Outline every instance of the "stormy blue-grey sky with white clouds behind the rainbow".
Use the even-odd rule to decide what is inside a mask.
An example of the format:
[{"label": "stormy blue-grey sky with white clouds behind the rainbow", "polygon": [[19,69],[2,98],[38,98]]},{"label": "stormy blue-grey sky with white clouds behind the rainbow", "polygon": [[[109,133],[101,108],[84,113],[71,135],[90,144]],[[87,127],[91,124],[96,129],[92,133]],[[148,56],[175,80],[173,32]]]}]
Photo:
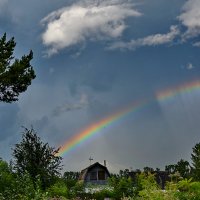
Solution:
[{"label": "stormy blue-grey sky with white clouds behind the rainbow", "polygon": [[[0,0],[0,36],[15,57],[32,49],[36,72],[12,104],[0,103],[0,157],[12,159],[23,128],[55,148],[135,102],[63,155],[63,171],[107,161],[111,172],[190,161],[200,142],[199,0]],[[158,94],[177,95],[161,99]],[[140,103],[139,103],[140,104]]]}]

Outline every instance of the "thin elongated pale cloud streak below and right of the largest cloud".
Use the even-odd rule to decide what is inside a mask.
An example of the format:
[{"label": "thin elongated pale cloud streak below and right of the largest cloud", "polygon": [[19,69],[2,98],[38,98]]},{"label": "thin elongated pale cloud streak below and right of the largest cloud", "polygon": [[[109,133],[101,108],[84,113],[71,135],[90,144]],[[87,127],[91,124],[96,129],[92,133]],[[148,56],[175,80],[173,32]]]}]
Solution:
[{"label": "thin elongated pale cloud streak below and right of the largest cloud", "polygon": [[170,32],[166,34],[155,34],[144,38],[139,38],[137,40],[131,40],[130,42],[115,42],[108,49],[129,49],[134,50],[142,46],[157,46],[162,44],[167,44],[172,42],[178,35],[180,31],[177,26],[171,26]]}]

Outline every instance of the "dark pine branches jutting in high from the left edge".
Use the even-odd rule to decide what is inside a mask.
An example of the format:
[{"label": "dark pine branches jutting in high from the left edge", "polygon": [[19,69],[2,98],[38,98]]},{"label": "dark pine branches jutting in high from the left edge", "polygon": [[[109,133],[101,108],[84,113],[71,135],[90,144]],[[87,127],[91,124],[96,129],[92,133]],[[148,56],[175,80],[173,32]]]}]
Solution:
[{"label": "dark pine branches jutting in high from the left edge", "polygon": [[26,91],[36,77],[30,64],[33,52],[13,60],[15,46],[14,37],[7,41],[4,34],[0,38],[0,101],[7,103],[17,101],[19,94]]}]

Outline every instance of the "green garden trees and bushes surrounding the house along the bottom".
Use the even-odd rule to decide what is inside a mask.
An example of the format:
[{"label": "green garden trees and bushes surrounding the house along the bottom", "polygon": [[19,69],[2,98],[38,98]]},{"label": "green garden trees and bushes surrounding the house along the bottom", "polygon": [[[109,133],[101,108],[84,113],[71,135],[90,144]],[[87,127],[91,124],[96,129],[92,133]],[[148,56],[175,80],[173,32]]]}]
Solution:
[{"label": "green garden trees and bushes surrounding the house along the bottom", "polygon": [[128,169],[111,174],[107,185],[85,185],[79,172],[61,174],[59,149],[43,143],[33,128],[24,128],[22,141],[13,148],[10,163],[0,159],[0,200],[199,200],[200,143],[192,149],[191,165],[181,159],[167,165],[169,180],[161,188],[155,171],[145,167],[131,178]]}]

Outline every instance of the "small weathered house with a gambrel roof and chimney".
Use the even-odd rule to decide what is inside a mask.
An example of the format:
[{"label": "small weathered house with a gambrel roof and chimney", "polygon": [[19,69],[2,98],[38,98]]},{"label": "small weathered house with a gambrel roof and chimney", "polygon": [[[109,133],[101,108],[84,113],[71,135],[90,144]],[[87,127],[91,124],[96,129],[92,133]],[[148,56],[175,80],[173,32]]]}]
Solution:
[{"label": "small weathered house with a gambrel roof and chimney", "polygon": [[89,167],[83,169],[80,173],[79,180],[84,181],[84,183],[92,183],[104,185],[107,183],[107,179],[110,177],[110,173],[106,167],[106,162],[104,165],[96,162]]}]

